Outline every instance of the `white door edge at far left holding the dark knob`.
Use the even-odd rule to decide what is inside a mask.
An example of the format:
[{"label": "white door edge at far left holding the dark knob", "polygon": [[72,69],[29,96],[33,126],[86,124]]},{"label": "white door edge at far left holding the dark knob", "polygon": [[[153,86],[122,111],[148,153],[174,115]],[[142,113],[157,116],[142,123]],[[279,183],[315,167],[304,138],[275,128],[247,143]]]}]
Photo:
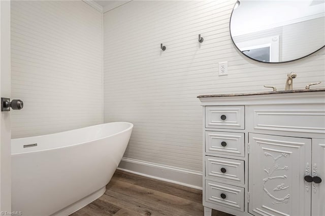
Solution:
[{"label": "white door edge at far left holding the dark knob", "polygon": [[[10,1],[0,1],[0,93],[11,98],[11,17]],[[0,211],[11,212],[11,115],[0,115]]]}]

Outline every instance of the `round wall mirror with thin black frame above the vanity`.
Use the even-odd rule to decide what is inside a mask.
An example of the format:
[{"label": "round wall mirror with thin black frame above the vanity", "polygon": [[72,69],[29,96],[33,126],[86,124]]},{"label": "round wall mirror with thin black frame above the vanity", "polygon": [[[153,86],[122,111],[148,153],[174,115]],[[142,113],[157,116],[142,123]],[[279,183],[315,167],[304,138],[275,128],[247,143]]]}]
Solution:
[{"label": "round wall mirror with thin black frame above the vanity", "polygon": [[237,1],[230,33],[235,46],[257,61],[306,57],[325,45],[325,1]]}]

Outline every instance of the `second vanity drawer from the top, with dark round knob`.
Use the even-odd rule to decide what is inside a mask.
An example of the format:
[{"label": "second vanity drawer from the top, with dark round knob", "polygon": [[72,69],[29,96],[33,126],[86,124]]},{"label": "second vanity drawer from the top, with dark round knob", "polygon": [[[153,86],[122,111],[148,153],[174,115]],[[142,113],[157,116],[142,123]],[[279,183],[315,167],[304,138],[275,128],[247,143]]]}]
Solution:
[{"label": "second vanity drawer from the top, with dark round knob", "polygon": [[244,133],[206,131],[205,151],[206,153],[245,157]]}]

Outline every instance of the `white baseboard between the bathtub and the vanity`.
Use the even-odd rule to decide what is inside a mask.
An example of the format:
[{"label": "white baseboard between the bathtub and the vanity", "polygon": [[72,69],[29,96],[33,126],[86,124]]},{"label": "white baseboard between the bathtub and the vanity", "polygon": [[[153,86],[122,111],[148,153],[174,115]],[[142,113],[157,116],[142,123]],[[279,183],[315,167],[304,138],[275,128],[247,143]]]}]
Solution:
[{"label": "white baseboard between the bathtub and the vanity", "polygon": [[202,172],[122,158],[119,170],[202,190]]}]

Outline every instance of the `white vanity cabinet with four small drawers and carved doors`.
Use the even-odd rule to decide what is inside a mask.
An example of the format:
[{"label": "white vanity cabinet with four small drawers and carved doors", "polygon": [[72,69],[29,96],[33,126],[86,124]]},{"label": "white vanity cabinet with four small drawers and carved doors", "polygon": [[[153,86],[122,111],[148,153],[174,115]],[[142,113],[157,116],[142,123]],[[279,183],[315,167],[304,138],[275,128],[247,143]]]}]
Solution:
[{"label": "white vanity cabinet with four small drawers and carved doors", "polygon": [[199,98],[205,215],[325,215],[323,89]]}]

